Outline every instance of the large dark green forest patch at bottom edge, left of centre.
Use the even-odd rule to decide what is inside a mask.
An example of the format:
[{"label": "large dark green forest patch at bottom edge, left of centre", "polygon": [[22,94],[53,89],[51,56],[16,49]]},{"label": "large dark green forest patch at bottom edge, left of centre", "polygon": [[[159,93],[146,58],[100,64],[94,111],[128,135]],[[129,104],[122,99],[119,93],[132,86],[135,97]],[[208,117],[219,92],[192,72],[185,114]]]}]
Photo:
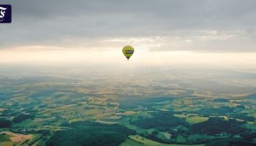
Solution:
[{"label": "large dark green forest patch at bottom edge, left of centre", "polygon": [[46,146],[118,146],[135,134],[124,126],[107,125],[91,121],[66,123],[67,130],[56,131],[46,142]]}]

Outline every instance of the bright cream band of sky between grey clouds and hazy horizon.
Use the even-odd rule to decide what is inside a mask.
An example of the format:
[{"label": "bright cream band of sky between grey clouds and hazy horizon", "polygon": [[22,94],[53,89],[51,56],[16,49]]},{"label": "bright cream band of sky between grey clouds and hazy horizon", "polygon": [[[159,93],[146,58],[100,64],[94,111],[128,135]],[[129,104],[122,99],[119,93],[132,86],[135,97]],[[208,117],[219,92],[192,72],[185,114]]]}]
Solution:
[{"label": "bright cream band of sky between grey clouds and hazy horizon", "polygon": [[[116,41],[116,40],[115,40]],[[118,41],[121,41],[118,40]],[[110,41],[111,42],[111,41]],[[251,69],[256,53],[197,53],[192,51],[152,51],[157,45],[134,43],[129,66],[219,66]],[[11,64],[127,64],[121,46],[74,47],[26,46],[0,50],[0,63]],[[91,46],[92,47],[92,46]],[[98,47],[98,48],[97,48]]]}]

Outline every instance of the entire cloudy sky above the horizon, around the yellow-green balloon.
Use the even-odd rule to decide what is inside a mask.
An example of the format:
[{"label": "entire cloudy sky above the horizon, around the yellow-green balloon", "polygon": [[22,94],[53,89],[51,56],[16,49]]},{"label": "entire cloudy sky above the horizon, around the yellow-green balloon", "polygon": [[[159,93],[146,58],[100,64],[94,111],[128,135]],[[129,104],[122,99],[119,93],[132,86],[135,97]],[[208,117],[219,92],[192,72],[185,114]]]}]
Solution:
[{"label": "entire cloudy sky above the horizon, around the yellow-green balloon", "polygon": [[10,0],[0,63],[256,66],[255,0]]}]

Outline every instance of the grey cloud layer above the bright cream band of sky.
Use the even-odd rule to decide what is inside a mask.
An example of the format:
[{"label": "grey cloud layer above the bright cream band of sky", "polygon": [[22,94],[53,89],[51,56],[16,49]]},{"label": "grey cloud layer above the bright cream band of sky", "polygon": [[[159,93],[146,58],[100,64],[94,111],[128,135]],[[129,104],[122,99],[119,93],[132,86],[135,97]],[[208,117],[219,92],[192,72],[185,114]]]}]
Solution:
[{"label": "grey cloud layer above the bright cream band of sky", "polygon": [[255,0],[12,0],[1,4],[12,4],[13,11],[12,24],[0,25],[2,48],[65,46],[65,39],[160,36],[192,43],[173,48],[165,40],[164,48],[152,50],[256,51]]}]

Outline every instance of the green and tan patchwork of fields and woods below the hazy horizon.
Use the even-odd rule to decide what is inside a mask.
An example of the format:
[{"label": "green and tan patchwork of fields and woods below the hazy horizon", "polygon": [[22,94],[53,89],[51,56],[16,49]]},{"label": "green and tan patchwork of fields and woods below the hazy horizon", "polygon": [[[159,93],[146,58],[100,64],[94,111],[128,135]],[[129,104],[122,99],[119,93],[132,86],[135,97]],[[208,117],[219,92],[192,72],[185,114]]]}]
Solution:
[{"label": "green and tan patchwork of fields and woods below the hazy horizon", "polygon": [[212,81],[186,75],[138,74],[0,74],[1,145],[255,145],[256,94],[202,91]]}]

